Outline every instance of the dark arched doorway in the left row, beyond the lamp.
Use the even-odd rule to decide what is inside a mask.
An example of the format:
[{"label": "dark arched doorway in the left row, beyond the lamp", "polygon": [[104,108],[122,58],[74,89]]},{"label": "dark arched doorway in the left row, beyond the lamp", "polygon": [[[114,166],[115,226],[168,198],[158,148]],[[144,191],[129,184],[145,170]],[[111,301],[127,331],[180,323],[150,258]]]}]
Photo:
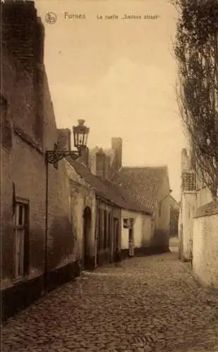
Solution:
[{"label": "dark arched doorway in the left row, beyond the lamp", "polygon": [[92,212],[87,206],[83,211],[83,268],[90,267],[90,230],[91,230]]}]

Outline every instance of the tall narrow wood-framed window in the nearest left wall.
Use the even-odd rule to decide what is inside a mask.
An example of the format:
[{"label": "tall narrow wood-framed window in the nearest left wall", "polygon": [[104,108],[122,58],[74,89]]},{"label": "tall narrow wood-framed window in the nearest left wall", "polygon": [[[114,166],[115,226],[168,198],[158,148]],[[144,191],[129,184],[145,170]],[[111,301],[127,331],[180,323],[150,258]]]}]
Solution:
[{"label": "tall narrow wood-framed window in the nearest left wall", "polygon": [[13,218],[15,279],[28,272],[28,201],[16,201]]}]

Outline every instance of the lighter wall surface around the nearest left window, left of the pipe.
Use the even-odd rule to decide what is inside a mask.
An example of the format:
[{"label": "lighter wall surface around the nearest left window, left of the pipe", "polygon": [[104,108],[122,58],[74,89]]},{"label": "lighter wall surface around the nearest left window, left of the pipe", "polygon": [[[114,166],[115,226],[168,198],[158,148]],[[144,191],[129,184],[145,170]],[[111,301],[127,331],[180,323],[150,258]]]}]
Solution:
[{"label": "lighter wall surface around the nearest left window, left of the pipe", "polygon": [[[3,278],[11,284],[14,271],[13,184],[15,196],[30,201],[30,277],[44,268],[45,168],[42,149],[35,139],[35,99],[30,75],[2,48],[2,94],[7,100],[10,146],[1,144],[4,173],[1,192]],[[33,120],[33,121],[32,121]],[[4,135],[6,130],[2,130]],[[2,140],[1,140],[2,142]]]}]

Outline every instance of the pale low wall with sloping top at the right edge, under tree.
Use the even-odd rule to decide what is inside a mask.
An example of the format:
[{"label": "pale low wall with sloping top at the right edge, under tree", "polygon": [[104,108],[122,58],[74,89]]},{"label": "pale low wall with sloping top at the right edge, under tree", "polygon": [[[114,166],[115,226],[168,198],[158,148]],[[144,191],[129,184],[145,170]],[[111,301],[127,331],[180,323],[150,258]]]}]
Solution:
[{"label": "pale low wall with sloping top at the right edge, under tree", "polygon": [[218,205],[197,210],[193,220],[193,274],[205,286],[218,289]]}]

